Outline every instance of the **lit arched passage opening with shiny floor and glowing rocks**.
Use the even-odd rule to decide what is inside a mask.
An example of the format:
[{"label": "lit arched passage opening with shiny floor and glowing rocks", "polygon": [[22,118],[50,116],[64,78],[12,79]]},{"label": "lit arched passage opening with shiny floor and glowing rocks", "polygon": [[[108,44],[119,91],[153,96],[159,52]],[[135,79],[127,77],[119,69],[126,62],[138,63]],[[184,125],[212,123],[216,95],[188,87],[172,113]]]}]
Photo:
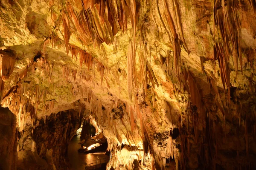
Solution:
[{"label": "lit arched passage opening with shiny floor and glowing rocks", "polygon": [[84,119],[68,145],[70,169],[106,169],[109,161],[107,148],[107,139],[96,120],[92,116]]}]

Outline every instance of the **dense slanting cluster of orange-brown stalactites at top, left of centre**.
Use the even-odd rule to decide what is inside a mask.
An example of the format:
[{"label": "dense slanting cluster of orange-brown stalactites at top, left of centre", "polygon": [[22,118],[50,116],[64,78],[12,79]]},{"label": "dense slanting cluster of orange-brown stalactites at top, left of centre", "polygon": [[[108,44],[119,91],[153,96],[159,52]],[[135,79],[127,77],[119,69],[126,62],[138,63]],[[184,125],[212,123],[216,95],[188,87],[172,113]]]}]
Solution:
[{"label": "dense slanting cluster of orange-brown stalactites at top, left of centre", "polygon": [[79,38],[86,45],[90,42],[97,44],[106,42],[108,44],[113,42],[113,35],[119,31],[119,27],[123,31],[127,28],[128,2],[125,0],[122,0],[121,3],[105,0],[82,2],[84,10],[80,12],[76,12],[73,6],[67,3],[67,11],[73,25],[80,33]]}]

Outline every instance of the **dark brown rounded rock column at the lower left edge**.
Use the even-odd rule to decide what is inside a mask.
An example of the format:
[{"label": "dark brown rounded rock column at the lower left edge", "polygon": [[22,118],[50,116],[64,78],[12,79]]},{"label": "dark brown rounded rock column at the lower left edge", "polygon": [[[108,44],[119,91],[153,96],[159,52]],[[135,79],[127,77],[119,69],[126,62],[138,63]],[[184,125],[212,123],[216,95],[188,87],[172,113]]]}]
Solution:
[{"label": "dark brown rounded rock column at the lower left edge", "polygon": [[8,109],[0,107],[0,169],[17,169],[16,116]]}]

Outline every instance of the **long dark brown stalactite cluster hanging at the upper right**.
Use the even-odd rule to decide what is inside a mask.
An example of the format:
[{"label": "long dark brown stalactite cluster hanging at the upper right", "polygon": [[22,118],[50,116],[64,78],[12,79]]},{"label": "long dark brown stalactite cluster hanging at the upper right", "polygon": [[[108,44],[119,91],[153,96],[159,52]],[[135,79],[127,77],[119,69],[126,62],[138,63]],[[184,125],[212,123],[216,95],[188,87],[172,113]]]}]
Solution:
[{"label": "long dark brown stalactite cluster hanging at the upper right", "polygon": [[[218,59],[221,70],[221,80],[228,88],[228,102],[230,102],[230,66],[229,56],[233,56],[236,75],[238,74],[238,59],[240,61],[241,74],[243,74],[242,66],[242,50],[240,43],[240,19],[237,14],[236,4],[228,1],[226,5],[220,0],[214,0],[214,27],[220,32],[220,39],[215,40],[214,59]],[[215,37],[215,30],[214,30]],[[224,85],[225,88],[225,85]]]}]

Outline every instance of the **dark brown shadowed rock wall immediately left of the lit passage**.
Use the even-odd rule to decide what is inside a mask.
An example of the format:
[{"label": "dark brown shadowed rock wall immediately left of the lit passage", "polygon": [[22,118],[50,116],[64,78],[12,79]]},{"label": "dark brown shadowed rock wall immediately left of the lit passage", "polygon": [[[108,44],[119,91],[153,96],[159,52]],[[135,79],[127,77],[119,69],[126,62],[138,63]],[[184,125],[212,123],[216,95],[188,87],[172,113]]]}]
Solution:
[{"label": "dark brown shadowed rock wall immediately left of the lit passage", "polygon": [[67,145],[80,126],[79,114],[73,110],[39,119],[33,133],[38,155],[45,158],[49,165],[54,165],[57,170],[67,170]]}]

